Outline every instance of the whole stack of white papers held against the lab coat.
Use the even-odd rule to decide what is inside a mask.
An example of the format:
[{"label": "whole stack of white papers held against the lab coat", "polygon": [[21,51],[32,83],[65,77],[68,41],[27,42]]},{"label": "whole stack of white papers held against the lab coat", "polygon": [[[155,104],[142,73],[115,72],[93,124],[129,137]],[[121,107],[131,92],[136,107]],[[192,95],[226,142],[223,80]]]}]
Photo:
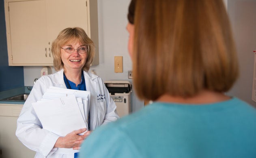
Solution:
[{"label": "whole stack of white papers held against the lab coat", "polygon": [[32,106],[43,129],[64,137],[74,130],[88,129],[89,103],[89,91],[51,86]]}]

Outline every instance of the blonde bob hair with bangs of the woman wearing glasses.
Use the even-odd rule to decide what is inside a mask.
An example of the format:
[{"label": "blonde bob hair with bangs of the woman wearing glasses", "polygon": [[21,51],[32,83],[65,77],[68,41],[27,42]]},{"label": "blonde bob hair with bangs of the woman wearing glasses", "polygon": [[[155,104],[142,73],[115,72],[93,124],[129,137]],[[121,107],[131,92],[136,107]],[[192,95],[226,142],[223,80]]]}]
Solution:
[{"label": "blonde bob hair with bangs of the woman wearing glasses", "polygon": [[56,71],[64,69],[64,64],[61,60],[60,47],[67,44],[69,41],[78,41],[82,44],[87,45],[87,59],[85,65],[82,67],[82,70],[87,71],[90,68],[90,64],[93,61],[95,54],[95,46],[93,41],[87,36],[84,29],[80,27],[69,27],[63,29],[57,36],[56,40],[52,42],[52,54],[53,54],[53,63]]}]

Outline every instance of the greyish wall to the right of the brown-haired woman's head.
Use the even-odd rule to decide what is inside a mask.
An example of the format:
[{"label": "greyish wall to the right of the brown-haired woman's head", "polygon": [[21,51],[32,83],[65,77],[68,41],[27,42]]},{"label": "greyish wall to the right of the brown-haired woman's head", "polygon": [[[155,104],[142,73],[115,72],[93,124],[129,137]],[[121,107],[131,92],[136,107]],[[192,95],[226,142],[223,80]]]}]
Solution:
[{"label": "greyish wall to the right of the brown-haired woman's head", "polygon": [[239,58],[240,76],[228,93],[256,106],[252,101],[254,53],[256,49],[256,0],[228,0],[234,40]]}]

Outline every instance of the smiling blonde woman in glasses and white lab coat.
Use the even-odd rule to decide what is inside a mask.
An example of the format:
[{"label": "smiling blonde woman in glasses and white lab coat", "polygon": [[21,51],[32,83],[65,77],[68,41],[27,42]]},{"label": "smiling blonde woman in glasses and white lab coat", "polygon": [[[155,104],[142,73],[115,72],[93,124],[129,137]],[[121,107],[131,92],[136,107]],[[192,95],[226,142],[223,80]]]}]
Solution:
[{"label": "smiling blonde woman in glasses and white lab coat", "polygon": [[[103,80],[88,73],[95,47],[82,28],[62,30],[52,43],[52,53],[57,72],[42,76],[34,84],[17,120],[16,135],[26,147],[37,152],[36,158],[74,158],[92,130],[117,120],[119,116]],[[78,134],[87,129],[73,129],[60,137],[42,128],[32,103],[41,100],[50,86],[90,91],[89,129],[84,135]]]}]

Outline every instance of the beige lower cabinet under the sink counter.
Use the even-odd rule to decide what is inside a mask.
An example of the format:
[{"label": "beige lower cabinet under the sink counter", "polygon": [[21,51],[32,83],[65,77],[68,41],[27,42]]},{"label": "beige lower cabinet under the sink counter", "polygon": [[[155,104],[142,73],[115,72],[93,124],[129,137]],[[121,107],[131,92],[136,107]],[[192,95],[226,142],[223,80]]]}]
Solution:
[{"label": "beige lower cabinet under the sink counter", "polygon": [[0,104],[0,158],[34,158],[36,154],[23,145],[15,135],[22,106]]}]

